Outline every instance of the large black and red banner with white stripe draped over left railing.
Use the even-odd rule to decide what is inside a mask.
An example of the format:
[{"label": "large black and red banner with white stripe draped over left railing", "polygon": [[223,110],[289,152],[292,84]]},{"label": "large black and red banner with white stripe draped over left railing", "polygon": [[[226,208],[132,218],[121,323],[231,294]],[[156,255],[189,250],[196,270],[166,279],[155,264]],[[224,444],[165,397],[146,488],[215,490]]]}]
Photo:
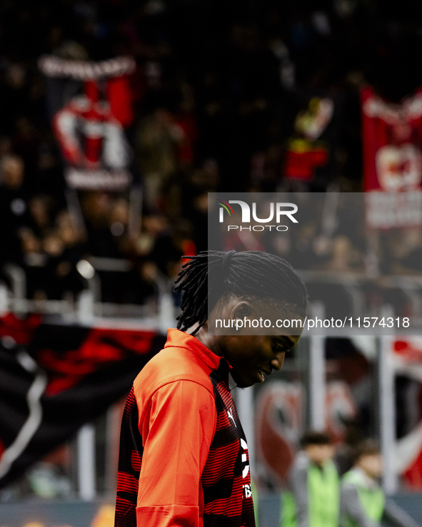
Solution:
[{"label": "large black and red banner with white stripe draped over left railing", "polygon": [[164,337],[0,319],[0,488],[129,392]]}]

